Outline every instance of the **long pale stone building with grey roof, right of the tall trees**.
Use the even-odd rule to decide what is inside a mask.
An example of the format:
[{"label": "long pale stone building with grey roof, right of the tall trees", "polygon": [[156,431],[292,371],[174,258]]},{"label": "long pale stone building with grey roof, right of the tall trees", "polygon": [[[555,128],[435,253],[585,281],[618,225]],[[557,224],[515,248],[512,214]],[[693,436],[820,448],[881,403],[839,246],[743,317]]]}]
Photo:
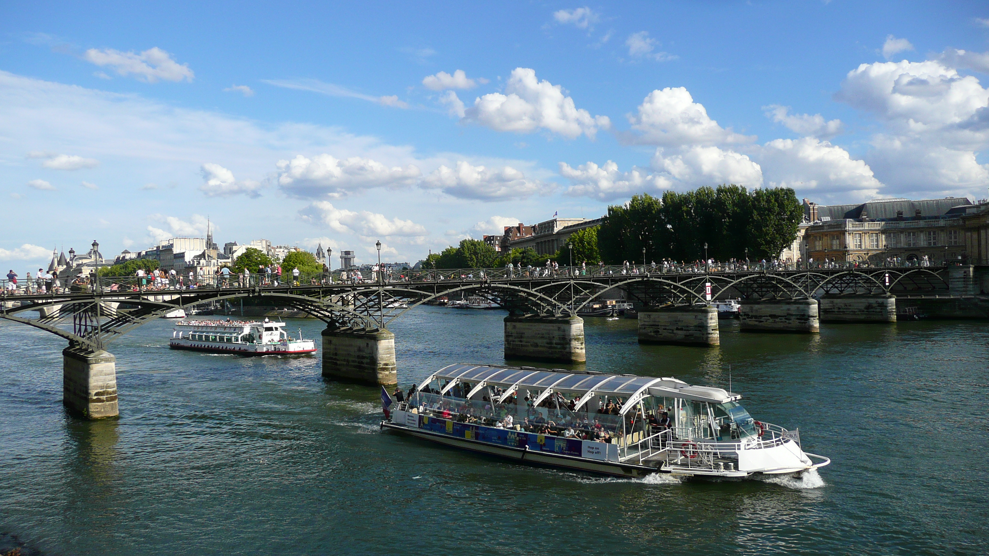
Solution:
[{"label": "long pale stone building with grey roof, right of the tall trees", "polygon": [[873,199],[858,205],[825,206],[804,199],[809,223],[803,237],[806,257],[881,263],[985,260],[982,253],[989,203],[968,198]]}]

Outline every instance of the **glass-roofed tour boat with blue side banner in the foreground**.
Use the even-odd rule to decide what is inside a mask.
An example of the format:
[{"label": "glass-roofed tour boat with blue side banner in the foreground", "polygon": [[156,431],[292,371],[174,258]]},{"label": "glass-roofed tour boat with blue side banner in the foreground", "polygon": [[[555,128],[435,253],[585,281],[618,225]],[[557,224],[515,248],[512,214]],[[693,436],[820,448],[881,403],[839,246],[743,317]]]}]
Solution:
[{"label": "glass-roofed tour boat with blue side banner in the foreground", "polygon": [[455,364],[416,385],[382,427],[526,463],[621,477],[795,474],[831,460],[742,396],[674,378]]}]

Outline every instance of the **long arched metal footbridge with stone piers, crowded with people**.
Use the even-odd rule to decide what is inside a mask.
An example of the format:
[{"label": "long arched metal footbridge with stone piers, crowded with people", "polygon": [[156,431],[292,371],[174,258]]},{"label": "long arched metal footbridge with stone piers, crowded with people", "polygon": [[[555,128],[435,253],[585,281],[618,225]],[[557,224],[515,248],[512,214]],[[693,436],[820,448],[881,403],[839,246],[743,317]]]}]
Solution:
[{"label": "long arched metal footbridge with stone piers, crowded with people", "polygon": [[508,311],[506,357],[584,361],[579,314],[606,292],[620,291],[639,318],[639,339],[717,345],[710,303],[741,301],[741,329],[816,332],[822,319],[896,321],[896,296],[978,293],[975,267],[864,267],[854,263],[473,268],[373,273],[341,281],[338,273],[267,280],[260,275],[200,278],[196,283],[138,277],[78,278],[51,290],[42,282],[2,281],[0,318],[68,340],[64,402],[87,417],[117,415],[116,337],[177,309],[251,299],[292,307],[326,324],[322,373],[333,379],[395,384],[395,335],[388,329],[416,306],[461,293]]}]

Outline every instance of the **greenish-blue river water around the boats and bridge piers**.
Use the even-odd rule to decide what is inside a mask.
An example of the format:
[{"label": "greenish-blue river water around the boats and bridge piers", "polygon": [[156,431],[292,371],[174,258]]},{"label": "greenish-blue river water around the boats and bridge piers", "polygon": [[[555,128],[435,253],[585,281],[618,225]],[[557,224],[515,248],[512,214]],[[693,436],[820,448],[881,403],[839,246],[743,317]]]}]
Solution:
[{"label": "greenish-blue river water around the boats and bridge piers", "polygon": [[[393,324],[407,388],[503,363],[500,311]],[[0,548],[68,554],[985,554],[989,326],[823,325],[715,348],[585,320],[586,368],[728,387],[832,458],[802,480],[602,479],[382,433],[379,391],[318,357],[172,351],[159,320],[112,344],[119,419],[61,406],[64,340],[0,322]],[[319,337],[316,321],[290,321]],[[532,364],[511,361],[513,364]],[[563,365],[554,365],[563,366]],[[37,552],[36,552],[37,551]]]}]

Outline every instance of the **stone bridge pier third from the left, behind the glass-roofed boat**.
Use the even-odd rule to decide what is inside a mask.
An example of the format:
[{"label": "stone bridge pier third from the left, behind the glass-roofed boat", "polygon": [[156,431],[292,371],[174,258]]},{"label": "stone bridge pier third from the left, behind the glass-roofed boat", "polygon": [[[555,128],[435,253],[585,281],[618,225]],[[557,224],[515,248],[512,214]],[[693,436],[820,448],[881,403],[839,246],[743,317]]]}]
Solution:
[{"label": "stone bridge pier third from the left, behind the glass-roofed boat", "polygon": [[584,351],[584,319],[580,317],[505,317],[504,356],[580,363]]}]

